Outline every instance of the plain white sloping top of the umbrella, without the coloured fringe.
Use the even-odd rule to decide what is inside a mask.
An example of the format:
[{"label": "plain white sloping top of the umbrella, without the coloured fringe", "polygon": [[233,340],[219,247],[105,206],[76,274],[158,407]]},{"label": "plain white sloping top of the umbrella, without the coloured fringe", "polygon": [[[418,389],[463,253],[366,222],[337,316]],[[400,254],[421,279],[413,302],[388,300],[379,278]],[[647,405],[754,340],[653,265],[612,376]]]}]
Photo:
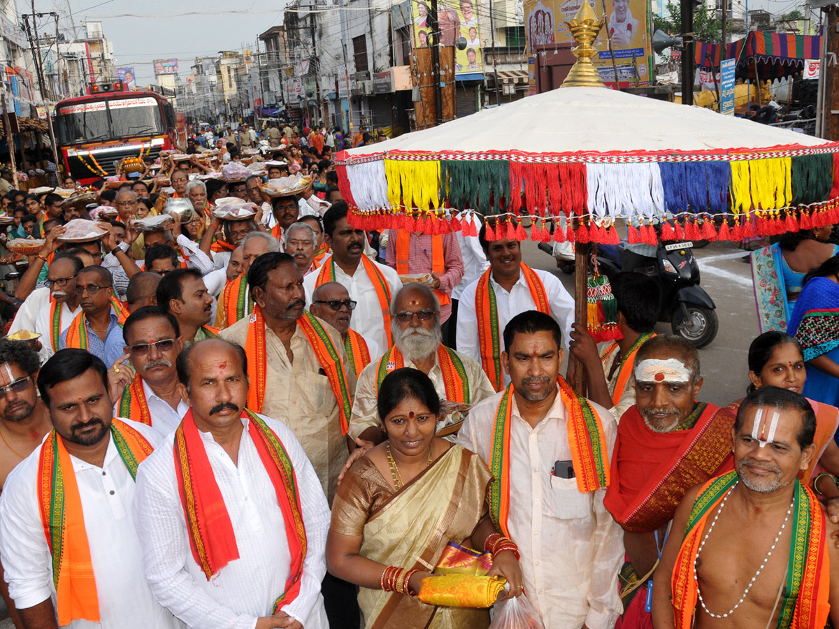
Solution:
[{"label": "plain white sloping top of the umbrella, without the coloured fringe", "polygon": [[585,153],[815,147],[825,140],[720,116],[623,91],[574,87],[528,96],[383,143],[353,148],[347,159],[383,151]]}]

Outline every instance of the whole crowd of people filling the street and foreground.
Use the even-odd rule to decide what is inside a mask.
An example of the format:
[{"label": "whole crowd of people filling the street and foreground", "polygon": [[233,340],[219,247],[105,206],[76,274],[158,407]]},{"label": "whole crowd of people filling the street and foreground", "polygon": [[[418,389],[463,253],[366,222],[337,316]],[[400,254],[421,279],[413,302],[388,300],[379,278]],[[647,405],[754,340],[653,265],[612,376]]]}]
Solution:
[{"label": "whole crowd of people filling the street and foreground", "polygon": [[839,257],[805,245],[791,334],[720,407],[652,278],[613,278],[598,348],[492,218],[357,229],[308,131],[3,196],[44,241],[0,294],[15,626],[486,629],[521,596],[545,629],[839,622]]}]

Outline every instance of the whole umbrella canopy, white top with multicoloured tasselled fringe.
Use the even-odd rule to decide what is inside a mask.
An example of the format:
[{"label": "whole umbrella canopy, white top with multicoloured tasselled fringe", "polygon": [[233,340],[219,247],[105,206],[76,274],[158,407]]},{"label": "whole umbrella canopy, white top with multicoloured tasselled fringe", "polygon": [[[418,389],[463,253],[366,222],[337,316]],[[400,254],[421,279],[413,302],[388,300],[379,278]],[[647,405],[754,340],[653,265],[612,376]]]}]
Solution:
[{"label": "whole umbrella canopy, white top with multicoloured tasselled fringe", "polygon": [[[630,242],[655,242],[650,226],[674,218],[662,239],[839,219],[839,143],[598,87],[528,96],[337,159],[365,229],[460,229],[446,208],[542,217],[532,237],[543,241],[616,242],[618,218]],[[549,234],[545,221],[560,215],[579,228]]]}]

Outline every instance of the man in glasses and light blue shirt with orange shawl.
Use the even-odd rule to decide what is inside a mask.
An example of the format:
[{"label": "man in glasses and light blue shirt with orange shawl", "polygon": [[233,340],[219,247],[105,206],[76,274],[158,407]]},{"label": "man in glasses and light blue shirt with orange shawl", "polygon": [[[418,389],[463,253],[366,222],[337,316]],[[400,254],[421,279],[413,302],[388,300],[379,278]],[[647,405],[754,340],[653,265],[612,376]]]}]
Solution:
[{"label": "man in glasses and light blue shirt with orange shawl", "polygon": [[60,349],[76,347],[91,352],[112,365],[122,356],[122,329],[119,312],[112,304],[111,272],[102,267],[86,267],[76,274],[81,313],[61,333]]}]

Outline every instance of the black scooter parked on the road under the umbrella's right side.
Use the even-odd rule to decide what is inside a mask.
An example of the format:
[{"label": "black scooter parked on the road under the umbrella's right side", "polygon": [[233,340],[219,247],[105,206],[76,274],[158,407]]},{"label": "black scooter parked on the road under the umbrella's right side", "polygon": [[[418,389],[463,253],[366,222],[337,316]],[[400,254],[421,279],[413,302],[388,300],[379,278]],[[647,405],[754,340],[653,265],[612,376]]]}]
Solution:
[{"label": "black scooter parked on the road under the umbrella's right side", "polygon": [[[550,245],[539,248],[553,255]],[[699,285],[693,242],[659,242],[655,257],[640,256],[623,245],[598,245],[597,264],[610,280],[622,271],[644,273],[661,288],[659,321],[669,321],[673,334],[696,347],[711,344],[719,330],[717,305]]]}]

